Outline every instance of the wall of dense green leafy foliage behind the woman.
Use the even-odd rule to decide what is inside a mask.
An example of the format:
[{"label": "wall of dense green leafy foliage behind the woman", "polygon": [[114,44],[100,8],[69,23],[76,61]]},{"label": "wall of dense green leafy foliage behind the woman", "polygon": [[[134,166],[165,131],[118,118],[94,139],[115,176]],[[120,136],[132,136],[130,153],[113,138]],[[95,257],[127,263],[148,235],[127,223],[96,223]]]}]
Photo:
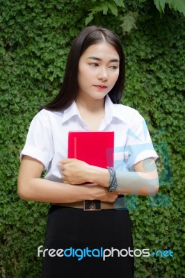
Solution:
[{"label": "wall of dense green leafy foliage behind the woman", "polygon": [[[49,204],[17,196],[19,152],[31,119],[54,98],[73,38],[85,26],[93,1],[1,0],[0,3],[0,277],[40,277]],[[95,2],[95,1],[94,1]],[[116,1],[115,1],[116,2]],[[184,17],[153,1],[124,1],[118,15],[95,13],[90,24],[117,33],[127,61],[122,103],[147,120],[161,156],[161,187],[152,198],[127,199],[135,248],[172,250],[174,257],[136,258],[136,278],[184,277]],[[95,3],[93,3],[95,5]],[[137,13],[131,33],[120,25]],[[131,28],[130,28],[131,29]],[[135,206],[135,209],[134,209]]]}]

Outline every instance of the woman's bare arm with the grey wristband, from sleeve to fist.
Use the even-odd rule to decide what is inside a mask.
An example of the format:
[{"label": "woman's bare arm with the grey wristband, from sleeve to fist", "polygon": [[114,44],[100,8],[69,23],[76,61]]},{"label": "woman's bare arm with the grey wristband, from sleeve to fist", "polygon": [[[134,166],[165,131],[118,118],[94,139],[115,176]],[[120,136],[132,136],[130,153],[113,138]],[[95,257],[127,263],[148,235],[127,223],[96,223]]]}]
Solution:
[{"label": "woman's bare arm with the grey wristband, from sleeve to fist", "polygon": [[[66,183],[79,184],[83,182],[98,183],[109,187],[109,173],[107,169],[88,165],[77,159],[63,159],[62,178]],[[147,158],[134,165],[134,172],[116,170],[117,189],[119,193],[153,196],[159,190],[159,178],[154,158]]]}]

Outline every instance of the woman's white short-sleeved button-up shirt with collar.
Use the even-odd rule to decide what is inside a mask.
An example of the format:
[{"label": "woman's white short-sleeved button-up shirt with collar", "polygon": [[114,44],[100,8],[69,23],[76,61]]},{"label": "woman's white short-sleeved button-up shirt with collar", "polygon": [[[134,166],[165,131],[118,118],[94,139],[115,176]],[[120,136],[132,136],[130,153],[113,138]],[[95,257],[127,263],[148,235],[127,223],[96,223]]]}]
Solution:
[{"label": "woman's white short-sleeved button-up shirt with collar", "polygon": [[[67,158],[69,131],[88,131],[75,101],[65,110],[51,112],[43,109],[33,118],[26,143],[21,152],[43,165],[45,179],[62,182],[58,161]],[[106,95],[104,119],[98,131],[114,131],[114,167],[129,171],[146,158],[158,158],[143,117],[134,108],[113,104]],[[88,143],[88,142],[87,142]]]}]

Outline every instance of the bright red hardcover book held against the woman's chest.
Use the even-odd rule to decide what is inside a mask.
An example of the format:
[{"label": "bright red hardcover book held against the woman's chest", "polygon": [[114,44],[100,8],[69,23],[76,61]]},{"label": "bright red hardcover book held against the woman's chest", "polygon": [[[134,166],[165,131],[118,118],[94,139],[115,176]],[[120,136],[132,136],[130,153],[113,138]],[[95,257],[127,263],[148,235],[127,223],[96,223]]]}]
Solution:
[{"label": "bright red hardcover book held against the woman's chest", "polygon": [[70,131],[68,158],[102,168],[113,167],[114,131]]}]

